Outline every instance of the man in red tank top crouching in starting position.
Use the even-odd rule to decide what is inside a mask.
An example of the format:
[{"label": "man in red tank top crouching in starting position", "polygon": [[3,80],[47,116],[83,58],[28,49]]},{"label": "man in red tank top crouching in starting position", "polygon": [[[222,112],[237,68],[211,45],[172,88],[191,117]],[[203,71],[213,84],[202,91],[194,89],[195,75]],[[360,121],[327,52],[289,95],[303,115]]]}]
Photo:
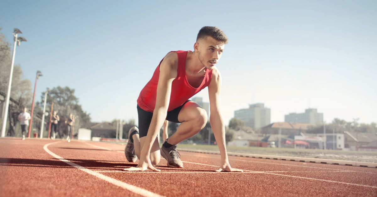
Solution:
[{"label": "man in red tank top crouching in starting position", "polygon": [[[182,168],[177,144],[197,134],[208,119],[205,110],[188,99],[208,86],[210,123],[221,154],[220,168],[216,171],[242,172],[229,164],[220,114],[221,75],[215,65],[227,42],[221,29],[205,26],[198,33],[194,51],[172,51],[161,60],[152,79],[140,92],[137,101],[139,128],[130,129],[125,149],[127,160],[135,162],[137,156],[139,164],[124,170],[160,171],[154,166],[161,156],[168,161],[169,167]],[[181,125],[160,150],[156,137],[164,120]]]}]

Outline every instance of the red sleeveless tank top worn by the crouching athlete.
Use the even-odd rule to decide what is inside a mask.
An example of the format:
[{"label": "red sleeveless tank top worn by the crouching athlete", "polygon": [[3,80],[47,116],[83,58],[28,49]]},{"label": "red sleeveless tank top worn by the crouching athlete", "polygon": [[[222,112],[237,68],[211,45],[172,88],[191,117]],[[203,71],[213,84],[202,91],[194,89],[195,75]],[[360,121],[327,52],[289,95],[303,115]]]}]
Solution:
[{"label": "red sleeveless tank top worn by the crouching athlete", "polygon": [[[167,111],[172,111],[181,106],[185,101],[193,95],[207,87],[211,82],[212,70],[207,69],[204,79],[198,88],[192,87],[186,79],[186,57],[187,51],[173,51],[178,54],[178,71],[177,77],[172,82],[172,91],[170,94],[170,102]],[[162,60],[161,60],[162,62]],[[156,106],[156,92],[159,78],[159,67],[157,66],[152,78],[146,86],[141,90],[138,98],[138,105],[144,111],[153,112]]]}]

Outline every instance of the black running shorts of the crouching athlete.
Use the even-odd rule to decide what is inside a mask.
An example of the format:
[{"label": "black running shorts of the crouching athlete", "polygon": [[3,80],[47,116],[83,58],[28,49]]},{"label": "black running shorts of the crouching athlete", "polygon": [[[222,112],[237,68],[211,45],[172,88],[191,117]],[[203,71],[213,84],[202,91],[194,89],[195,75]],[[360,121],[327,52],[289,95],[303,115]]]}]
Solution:
[{"label": "black running shorts of the crouching athlete", "polygon": [[[175,108],[172,111],[168,111],[166,115],[166,120],[169,120],[170,122],[180,123],[178,121],[178,114],[181,111],[182,107],[189,101],[190,100],[187,100],[178,108]],[[150,122],[152,121],[153,113],[144,111],[143,109],[139,107],[139,105],[137,106],[137,108],[138,108],[138,117],[139,117],[139,137],[144,137],[144,136],[147,136],[149,125],[150,125]]]}]

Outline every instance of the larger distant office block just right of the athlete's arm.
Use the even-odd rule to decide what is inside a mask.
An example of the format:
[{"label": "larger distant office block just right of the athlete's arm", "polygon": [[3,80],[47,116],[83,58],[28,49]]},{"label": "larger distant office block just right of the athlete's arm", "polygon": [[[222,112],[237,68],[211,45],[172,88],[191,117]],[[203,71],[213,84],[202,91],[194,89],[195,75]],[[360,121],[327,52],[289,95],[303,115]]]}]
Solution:
[{"label": "larger distant office block just right of the athlete's arm", "polygon": [[259,129],[271,123],[271,109],[265,108],[263,103],[249,105],[248,109],[234,111],[234,118],[243,120],[245,126]]}]

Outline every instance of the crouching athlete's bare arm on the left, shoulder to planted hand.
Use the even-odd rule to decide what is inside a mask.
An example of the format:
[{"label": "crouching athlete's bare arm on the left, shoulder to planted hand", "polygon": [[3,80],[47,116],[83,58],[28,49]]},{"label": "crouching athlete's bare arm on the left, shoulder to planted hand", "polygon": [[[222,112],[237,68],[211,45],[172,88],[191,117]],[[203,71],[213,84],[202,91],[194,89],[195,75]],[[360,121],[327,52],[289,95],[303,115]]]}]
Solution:
[{"label": "crouching athlete's bare arm on the left, shoulder to planted hand", "polygon": [[150,161],[150,151],[167,115],[170,93],[172,90],[172,82],[177,76],[177,69],[178,55],[175,52],[169,52],[159,66],[160,74],[157,84],[156,106],[149,125],[146,142],[141,148],[139,164],[136,168],[128,168],[125,170],[144,171],[146,169],[152,169],[153,171],[160,171],[152,165]]}]

